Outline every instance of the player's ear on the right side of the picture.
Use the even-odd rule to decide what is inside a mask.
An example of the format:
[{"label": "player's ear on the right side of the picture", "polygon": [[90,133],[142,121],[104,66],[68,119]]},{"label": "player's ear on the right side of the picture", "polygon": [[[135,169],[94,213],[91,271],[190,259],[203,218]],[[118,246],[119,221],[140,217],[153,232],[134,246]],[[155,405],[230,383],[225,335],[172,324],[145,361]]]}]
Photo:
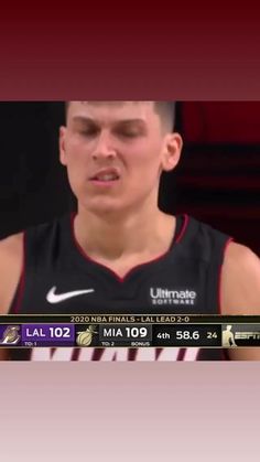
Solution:
[{"label": "player's ear on the right side of the picture", "polygon": [[164,150],[162,155],[162,168],[170,172],[177,165],[183,147],[183,140],[180,133],[167,133],[165,137]]}]

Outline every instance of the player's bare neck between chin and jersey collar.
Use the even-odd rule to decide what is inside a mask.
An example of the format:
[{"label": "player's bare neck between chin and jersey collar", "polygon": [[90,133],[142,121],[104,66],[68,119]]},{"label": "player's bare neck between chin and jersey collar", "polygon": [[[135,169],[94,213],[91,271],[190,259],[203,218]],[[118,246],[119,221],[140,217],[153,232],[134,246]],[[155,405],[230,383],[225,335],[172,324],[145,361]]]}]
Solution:
[{"label": "player's bare neck between chin and jersey collar", "polygon": [[141,254],[154,257],[169,249],[174,232],[175,219],[151,207],[109,217],[79,209],[74,222],[78,244],[94,259],[115,260]]}]

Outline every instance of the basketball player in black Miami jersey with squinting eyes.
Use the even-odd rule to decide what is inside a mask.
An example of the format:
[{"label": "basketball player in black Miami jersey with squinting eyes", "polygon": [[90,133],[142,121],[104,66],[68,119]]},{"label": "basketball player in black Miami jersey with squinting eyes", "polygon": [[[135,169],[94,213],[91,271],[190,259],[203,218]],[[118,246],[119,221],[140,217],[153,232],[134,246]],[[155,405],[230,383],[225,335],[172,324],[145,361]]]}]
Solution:
[{"label": "basketball player in black Miami jersey with squinting eyes", "polygon": [[[258,257],[207,225],[158,207],[161,173],[175,169],[182,151],[172,126],[169,101],[67,105],[59,157],[78,211],[0,243],[1,313],[260,314]],[[34,348],[24,355],[203,359],[205,352]],[[260,348],[231,348],[229,357],[259,359]]]}]

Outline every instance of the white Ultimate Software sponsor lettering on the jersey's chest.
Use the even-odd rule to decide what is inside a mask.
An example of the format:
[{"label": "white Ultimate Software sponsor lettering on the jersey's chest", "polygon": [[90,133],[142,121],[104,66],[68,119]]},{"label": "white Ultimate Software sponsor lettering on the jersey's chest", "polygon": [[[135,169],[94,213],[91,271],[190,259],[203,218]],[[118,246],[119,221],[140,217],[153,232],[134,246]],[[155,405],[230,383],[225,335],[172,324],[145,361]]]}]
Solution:
[{"label": "white Ultimate Software sponsor lettering on the jersey's chest", "polygon": [[197,293],[194,290],[169,290],[150,288],[150,299],[153,305],[194,305]]}]

